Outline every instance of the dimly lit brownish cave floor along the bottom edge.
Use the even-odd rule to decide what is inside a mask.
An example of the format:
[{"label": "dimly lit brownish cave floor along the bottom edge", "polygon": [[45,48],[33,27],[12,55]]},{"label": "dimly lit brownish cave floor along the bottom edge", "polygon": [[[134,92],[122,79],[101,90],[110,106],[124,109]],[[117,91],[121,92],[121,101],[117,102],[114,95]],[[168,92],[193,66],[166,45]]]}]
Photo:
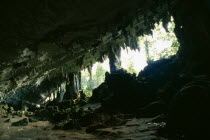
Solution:
[{"label": "dimly lit brownish cave floor along the bottom edge", "polygon": [[27,126],[11,126],[12,123],[27,118],[26,116],[14,116],[8,122],[8,118],[1,116],[0,139],[1,140],[90,140],[90,139],[124,139],[124,140],[164,140],[157,136],[157,129],[165,125],[163,122],[153,122],[156,118],[129,118],[124,119],[125,124],[107,128],[96,129],[87,133],[87,127],[76,130],[54,129],[49,121],[29,122]]}]

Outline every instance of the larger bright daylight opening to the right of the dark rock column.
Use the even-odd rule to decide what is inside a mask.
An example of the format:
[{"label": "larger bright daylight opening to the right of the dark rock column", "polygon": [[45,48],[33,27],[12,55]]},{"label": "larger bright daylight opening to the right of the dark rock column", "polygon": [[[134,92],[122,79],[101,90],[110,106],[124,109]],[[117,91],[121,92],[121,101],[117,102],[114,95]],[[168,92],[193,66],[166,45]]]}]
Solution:
[{"label": "larger bright daylight opening to the right of the dark rock column", "polygon": [[175,24],[168,24],[168,31],[163,28],[162,22],[155,24],[153,35],[139,37],[139,50],[131,50],[129,47],[121,51],[121,65],[130,73],[138,74],[152,61],[170,58],[179,49],[179,42],[174,34]]}]

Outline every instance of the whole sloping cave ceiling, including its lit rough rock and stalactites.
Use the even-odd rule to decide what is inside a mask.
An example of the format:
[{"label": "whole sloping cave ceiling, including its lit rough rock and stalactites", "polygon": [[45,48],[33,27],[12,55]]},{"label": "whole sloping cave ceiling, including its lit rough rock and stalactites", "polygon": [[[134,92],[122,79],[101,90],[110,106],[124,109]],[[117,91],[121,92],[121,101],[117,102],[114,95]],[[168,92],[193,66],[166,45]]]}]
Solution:
[{"label": "whole sloping cave ceiling, including its lit rough rock and stalactites", "polygon": [[152,0],[2,3],[1,101],[36,105],[51,94],[62,98],[66,75],[103,61],[115,46],[137,48],[137,35],[151,33],[161,19],[167,22],[169,5]]}]

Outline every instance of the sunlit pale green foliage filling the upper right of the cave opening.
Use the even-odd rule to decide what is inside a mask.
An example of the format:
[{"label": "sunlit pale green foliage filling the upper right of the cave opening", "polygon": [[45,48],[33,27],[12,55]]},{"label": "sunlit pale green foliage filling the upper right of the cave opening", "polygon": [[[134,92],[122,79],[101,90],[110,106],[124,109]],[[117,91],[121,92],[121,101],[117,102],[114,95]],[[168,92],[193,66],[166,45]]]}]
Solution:
[{"label": "sunlit pale green foliage filling the upper right of the cave opening", "polygon": [[162,24],[160,22],[155,25],[153,36],[139,37],[141,49],[144,48],[148,63],[175,55],[180,46],[173,32],[175,24],[173,22],[168,24],[169,32],[165,31]]}]

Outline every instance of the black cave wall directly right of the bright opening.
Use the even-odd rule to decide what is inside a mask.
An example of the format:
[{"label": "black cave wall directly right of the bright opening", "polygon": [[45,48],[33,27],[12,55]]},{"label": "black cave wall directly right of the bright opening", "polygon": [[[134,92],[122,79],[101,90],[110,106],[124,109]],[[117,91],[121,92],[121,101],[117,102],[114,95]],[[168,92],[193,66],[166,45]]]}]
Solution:
[{"label": "black cave wall directly right of the bright opening", "polygon": [[178,61],[183,71],[209,74],[209,1],[178,0],[171,14],[176,24],[175,34],[181,43]]}]

